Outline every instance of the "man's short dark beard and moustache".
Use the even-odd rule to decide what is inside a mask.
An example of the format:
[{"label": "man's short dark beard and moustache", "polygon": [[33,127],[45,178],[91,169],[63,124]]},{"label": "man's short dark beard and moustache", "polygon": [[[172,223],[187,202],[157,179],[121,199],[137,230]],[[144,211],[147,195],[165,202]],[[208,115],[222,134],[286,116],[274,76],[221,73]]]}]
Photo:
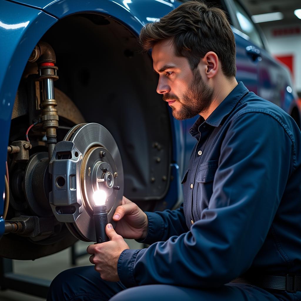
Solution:
[{"label": "man's short dark beard and moustache", "polygon": [[193,71],[193,79],[188,89],[183,95],[183,100],[176,95],[166,93],[163,95],[163,100],[174,99],[181,103],[181,108],[175,110],[175,107],[170,106],[172,109],[172,116],[178,120],[184,120],[192,118],[200,113],[206,112],[208,110],[213,98],[213,88],[207,85],[200,74],[198,69]]}]

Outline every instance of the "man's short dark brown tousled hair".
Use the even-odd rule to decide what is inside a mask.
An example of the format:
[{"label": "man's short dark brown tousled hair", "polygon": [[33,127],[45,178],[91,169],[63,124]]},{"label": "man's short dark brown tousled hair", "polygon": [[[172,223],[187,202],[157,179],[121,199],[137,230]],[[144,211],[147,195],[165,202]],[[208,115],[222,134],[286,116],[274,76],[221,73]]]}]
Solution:
[{"label": "man's short dark brown tousled hair", "polygon": [[194,0],[181,4],[159,21],[146,24],[139,43],[147,51],[158,42],[172,39],[175,54],[186,57],[191,70],[209,51],[219,57],[228,78],[236,74],[235,39],[224,11]]}]

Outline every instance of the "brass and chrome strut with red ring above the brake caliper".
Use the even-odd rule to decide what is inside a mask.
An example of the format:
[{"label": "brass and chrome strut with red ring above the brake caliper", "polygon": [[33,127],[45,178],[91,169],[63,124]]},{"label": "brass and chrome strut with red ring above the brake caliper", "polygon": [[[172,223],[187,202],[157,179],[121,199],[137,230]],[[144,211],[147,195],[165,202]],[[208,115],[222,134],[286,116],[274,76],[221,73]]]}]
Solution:
[{"label": "brass and chrome strut with red ring above the brake caliper", "polygon": [[56,129],[58,128],[57,102],[54,98],[53,82],[58,79],[55,66],[55,53],[46,42],[39,42],[29,57],[30,62],[37,61],[39,67],[39,81],[42,82],[43,96],[40,103],[42,109],[42,124],[46,130],[48,157],[51,160],[56,144]]}]

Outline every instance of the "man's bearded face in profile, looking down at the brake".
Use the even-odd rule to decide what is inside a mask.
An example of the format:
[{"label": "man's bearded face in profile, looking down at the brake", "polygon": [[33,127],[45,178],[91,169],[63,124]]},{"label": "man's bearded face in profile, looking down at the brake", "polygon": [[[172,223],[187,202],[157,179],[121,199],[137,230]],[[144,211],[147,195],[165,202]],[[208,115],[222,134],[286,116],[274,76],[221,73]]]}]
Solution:
[{"label": "man's bearded face in profile, looking down at the brake", "polygon": [[170,41],[156,44],[152,50],[153,66],[159,73],[157,92],[168,101],[172,115],[179,120],[206,112],[213,98],[213,88],[207,85],[198,68],[191,71],[186,57],[174,54]]}]

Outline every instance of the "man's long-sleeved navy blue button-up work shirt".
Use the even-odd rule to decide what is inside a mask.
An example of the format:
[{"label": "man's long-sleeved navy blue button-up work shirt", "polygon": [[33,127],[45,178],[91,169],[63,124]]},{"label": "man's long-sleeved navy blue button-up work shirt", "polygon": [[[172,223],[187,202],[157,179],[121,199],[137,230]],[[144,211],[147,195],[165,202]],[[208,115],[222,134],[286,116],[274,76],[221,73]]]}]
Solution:
[{"label": "man's long-sleeved navy blue button-up work shirt", "polygon": [[244,273],[301,275],[301,132],[242,82],[190,129],[197,144],[176,210],[147,213],[143,250],[118,260],[127,287],[216,287]]}]

